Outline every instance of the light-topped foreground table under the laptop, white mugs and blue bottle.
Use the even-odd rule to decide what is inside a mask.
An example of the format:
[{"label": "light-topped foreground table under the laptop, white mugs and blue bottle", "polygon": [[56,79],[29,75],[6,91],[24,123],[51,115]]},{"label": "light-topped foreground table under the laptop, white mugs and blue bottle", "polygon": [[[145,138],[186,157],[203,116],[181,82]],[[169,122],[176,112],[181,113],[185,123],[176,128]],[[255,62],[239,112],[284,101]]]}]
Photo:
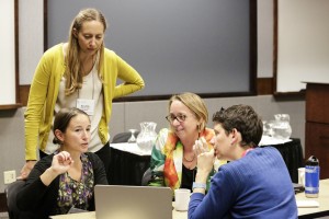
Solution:
[{"label": "light-topped foreground table under the laptop, white mugs and blue bottle", "polygon": [[[305,193],[296,194],[296,201],[309,201],[315,200],[319,204],[319,207],[298,207],[298,218],[310,219],[329,216],[329,178],[320,181],[320,193],[318,198],[307,198]],[[174,203],[172,203],[174,206]],[[95,219],[95,212],[79,212],[70,215],[53,216],[53,219]],[[172,210],[172,219],[186,219],[188,211]]]}]

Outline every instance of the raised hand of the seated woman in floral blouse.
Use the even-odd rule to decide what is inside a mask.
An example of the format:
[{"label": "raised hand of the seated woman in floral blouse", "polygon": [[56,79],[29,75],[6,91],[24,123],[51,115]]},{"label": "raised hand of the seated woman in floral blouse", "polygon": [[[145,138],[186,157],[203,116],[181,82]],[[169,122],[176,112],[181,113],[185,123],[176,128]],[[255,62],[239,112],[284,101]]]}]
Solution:
[{"label": "raised hand of the seated woman in floral blouse", "polygon": [[73,164],[73,160],[69,152],[61,151],[54,155],[52,162],[52,169],[57,172],[58,174],[66,173],[71,165]]}]

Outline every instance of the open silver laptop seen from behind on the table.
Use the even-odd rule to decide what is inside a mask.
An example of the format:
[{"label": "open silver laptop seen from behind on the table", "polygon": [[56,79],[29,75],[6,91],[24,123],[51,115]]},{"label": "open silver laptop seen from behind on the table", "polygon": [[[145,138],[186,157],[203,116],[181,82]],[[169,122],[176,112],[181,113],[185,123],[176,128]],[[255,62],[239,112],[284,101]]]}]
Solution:
[{"label": "open silver laptop seen from behind on the table", "polygon": [[169,187],[95,185],[97,219],[171,219]]}]

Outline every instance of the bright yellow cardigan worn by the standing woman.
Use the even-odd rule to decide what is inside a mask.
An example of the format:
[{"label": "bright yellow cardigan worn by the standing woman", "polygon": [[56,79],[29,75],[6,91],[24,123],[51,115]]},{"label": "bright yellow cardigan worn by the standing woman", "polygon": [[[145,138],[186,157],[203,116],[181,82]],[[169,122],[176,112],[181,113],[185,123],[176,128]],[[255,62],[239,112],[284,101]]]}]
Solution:
[{"label": "bright yellow cardigan worn by the standing woman", "polygon": [[[65,72],[63,44],[49,48],[41,58],[29,94],[25,117],[25,159],[37,159],[37,146],[46,148],[52,128],[54,108],[57,101],[60,78]],[[99,124],[102,143],[109,141],[109,123],[112,113],[112,100],[138,91],[145,87],[138,72],[114,51],[104,49],[101,66],[103,77],[104,111]],[[116,85],[116,79],[125,81]]]}]

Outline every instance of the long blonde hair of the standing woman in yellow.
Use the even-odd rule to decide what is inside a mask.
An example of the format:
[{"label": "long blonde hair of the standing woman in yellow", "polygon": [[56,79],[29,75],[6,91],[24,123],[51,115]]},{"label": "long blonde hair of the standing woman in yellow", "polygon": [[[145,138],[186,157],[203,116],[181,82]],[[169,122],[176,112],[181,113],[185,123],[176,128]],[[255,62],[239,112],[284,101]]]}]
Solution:
[{"label": "long blonde hair of the standing woman in yellow", "polygon": [[[68,47],[67,47],[67,56],[65,58],[66,62],[66,84],[65,84],[65,94],[70,95],[72,94],[77,89],[82,88],[82,66],[80,62],[79,57],[79,43],[78,38],[73,34],[73,30],[76,30],[78,33],[80,32],[82,24],[87,21],[100,21],[104,26],[104,32],[107,27],[106,20],[104,15],[97,9],[84,9],[81,10],[77,16],[73,19],[70,30],[69,30],[69,41],[68,41]],[[99,56],[99,66],[98,66],[98,72],[99,78],[102,80],[100,69],[103,65],[103,57],[104,57],[104,42],[102,43],[100,49],[99,49],[100,56]]]}]

